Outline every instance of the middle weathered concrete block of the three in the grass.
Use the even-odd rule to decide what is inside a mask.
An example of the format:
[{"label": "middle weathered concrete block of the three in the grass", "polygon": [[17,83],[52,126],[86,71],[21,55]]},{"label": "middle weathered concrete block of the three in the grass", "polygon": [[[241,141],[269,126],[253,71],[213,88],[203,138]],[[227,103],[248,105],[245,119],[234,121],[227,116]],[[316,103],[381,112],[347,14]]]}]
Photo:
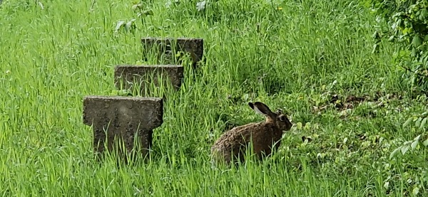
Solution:
[{"label": "middle weathered concrete block of the three in the grass", "polygon": [[[148,85],[161,86],[158,80],[160,76],[165,87],[166,82],[170,82],[174,90],[178,90],[183,81],[183,71],[182,65],[117,65],[114,69],[114,83],[118,89],[121,85],[122,88],[132,89],[134,82],[138,82],[143,95]],[[165,80],[166,78],[169,80]]]}]

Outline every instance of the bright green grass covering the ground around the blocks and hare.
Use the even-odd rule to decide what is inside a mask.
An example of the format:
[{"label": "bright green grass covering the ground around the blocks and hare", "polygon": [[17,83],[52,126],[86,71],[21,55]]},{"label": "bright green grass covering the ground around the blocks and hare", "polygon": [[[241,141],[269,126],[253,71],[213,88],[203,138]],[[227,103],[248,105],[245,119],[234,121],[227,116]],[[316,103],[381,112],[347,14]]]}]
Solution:
[{"label": "bright green grass covering the ground around the blocks and hare", "polygon": [[[0,8],[2,196],[426,196],[426,149],[389,154],[424,133],[402,125],[427,100],[402,82],[392,44],[372,53],[375,18],[357,1],[156,1],[134,33],[114,31],[136,17],[128,1],[36,2]],[[141,60],[147,36],[203,38],[206,63],[168,92],[148,164],[99,164],[83,97],[115,95],[114,66]],[[377,92],[350,110],[327,104]],[[222,132],[263,121],[256,100],[295,127],[272,158],[213,169]]]}]

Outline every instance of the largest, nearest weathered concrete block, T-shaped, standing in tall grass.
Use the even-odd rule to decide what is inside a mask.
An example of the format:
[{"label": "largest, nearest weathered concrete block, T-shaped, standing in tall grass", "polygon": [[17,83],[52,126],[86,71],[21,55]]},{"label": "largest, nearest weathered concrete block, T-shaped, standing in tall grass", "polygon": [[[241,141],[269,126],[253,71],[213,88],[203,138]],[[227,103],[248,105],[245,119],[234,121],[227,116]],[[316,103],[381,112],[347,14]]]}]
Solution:
[{"label": "largest, nearest weathered concrete block, T-shaped, standing in tall grass", "polygon": [[[83,123],[93,125],[96,153],[105,151],[106,142],[108,151],[146,156],[152,145],[153,129],[163,123],[163,100],[156,97],[87,96],[83,99]],[[134,149],[134,139],[141,149]],[[122,142],[121,146],[126,150],[116,147],[118,142]]]}]

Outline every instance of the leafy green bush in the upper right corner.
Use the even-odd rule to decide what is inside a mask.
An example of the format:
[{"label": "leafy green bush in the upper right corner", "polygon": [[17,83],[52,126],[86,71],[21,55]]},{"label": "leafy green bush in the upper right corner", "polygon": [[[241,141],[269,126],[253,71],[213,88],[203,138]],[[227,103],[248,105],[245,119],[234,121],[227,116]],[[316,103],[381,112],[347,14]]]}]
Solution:
[{"label": "leafy green bush in the upper right corner", "polygon": [[[373,51],[379,49],[380,41],[397,43],[394,60],[404,71],[403,77],[414,87],[427,93],[428,87],[428,1],[426,0],[366,0],[377,16],[379,24],[387,22],[387,27],[379,26],[374,33],[377,43]],[[409,74],[409,75],[407,75]]]}]

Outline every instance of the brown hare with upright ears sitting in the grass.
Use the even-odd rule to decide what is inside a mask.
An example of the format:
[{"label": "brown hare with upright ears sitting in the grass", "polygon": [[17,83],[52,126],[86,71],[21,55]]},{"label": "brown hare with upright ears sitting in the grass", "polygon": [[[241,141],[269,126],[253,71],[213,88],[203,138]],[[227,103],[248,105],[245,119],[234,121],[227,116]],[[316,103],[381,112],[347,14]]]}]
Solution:
[{"label": "brown hare with upright ears sitting in the grass", "polygon": [[225,132],[211,147],[213,162],[224,161],[230,164],[232,159],[238,158],[243,162],[245,151],[250,142],[253,142],[253,152],[259,159],[269,156],[272,151],[280,147],[282,131],[291,129],[292,124],[280,110],[270,111],[263,102],[249,102],[248,105],[258,114],[266,117],[265,122],[245,124]]}]

